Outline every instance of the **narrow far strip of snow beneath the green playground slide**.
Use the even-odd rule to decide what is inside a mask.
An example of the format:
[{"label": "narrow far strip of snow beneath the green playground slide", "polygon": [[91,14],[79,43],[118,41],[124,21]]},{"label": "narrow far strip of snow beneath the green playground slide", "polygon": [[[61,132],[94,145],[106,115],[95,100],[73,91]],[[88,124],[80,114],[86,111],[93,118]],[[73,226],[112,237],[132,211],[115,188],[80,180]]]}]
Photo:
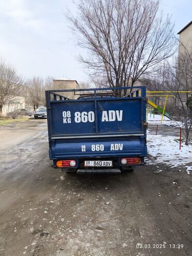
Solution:
[{"label": "narrow far strip of snow beneath the green playground slide", "polygon": [[167,125],[167,126],[176,126],[182,127],[182,123],[175,120],[170,120],[167,116],[163,116],[162,124],[161,124],[162,115],[147,115],[147,122],[151,125]]}]

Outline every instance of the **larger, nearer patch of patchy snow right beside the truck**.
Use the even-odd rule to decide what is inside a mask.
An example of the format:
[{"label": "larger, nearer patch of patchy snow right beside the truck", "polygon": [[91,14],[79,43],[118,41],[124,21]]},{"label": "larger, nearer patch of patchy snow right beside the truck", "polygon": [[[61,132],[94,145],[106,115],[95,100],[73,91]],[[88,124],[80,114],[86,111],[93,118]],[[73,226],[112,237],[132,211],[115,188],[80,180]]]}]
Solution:
[{"label": "larger, nearer patch of patchy snow right beside the truck", "polygon": [[155,135],[147,131],[147,151],[154,159],[147,160],[147,164],[166,164],[173,167],[186,167],[187,173],[192,174],[192,145],[182,143],[179,149],[179,141],[174,136]]}]

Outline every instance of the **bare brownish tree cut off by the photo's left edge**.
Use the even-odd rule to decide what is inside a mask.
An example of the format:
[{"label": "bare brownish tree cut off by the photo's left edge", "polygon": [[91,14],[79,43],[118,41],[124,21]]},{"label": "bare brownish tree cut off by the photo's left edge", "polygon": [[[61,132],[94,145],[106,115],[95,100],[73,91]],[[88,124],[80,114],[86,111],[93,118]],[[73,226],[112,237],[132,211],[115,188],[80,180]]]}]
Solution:
[{"label": "bare brownish tree cut off by the photo's left edge", "polygon": [[16,96],[24,94],[23,80],[12,66],[4,61],[0,62],[0,116],[3,105],[14,99]]}]

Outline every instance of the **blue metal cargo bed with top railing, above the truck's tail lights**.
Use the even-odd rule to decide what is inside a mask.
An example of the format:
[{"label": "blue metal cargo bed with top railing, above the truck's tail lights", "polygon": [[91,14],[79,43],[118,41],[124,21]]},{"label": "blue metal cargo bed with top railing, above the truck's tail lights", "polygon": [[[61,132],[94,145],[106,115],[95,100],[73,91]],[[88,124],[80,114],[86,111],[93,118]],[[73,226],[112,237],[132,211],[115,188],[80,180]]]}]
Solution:
[{"label": "blue metal cargo bed with top railing, above the truck's tail lights", "polygon": [[[126,96],[118,97],[121,90],[130,90]],[[78,99],[69,99],[64,93],[73,92]],[[86,92],[86,95],[83,93]],[[88,93],[90,92],[90,93]],[[140,93],[139,93],[140,92]],[[107,95],[108,93],[108,95]],[[113,94],[115,97],[113,97]],[[142,163],[146,156],[146,88],[144,86],[119,87],[119,88],[91,88],[91,89],[66,89],[46,91],[46,105],[48,117],[49,156],[56,167],[58,159],[85,159],[95,157],[123,157],[140,156]],[[130,106],[133,109],[130,109]],[[94,122],[82,124],[62,124],[62,111],[77,111],[85,106],[94,112]],[[124,111],[122,122],[101,122],[104,110],[120,107]],[[116,107],[118,109],[118,107]],[[75,109],[75,110],[74,110]],[[83,110],[83,111],[84,111]],[[79,110],[80,111],[80,110]],[[71,112],[70,112],[71,113]],[[76,112],[75,112],[76,113]],[[128,113],[128,114],[126,114]],[[119,113],[117,113],[119,115]],[[70,114],[71,115],[71,114]],[[103,117],[102,117],[103,118]],[[108,118],[108,117],[107,117]],[[65,118],[66,119],[66,118]],[[63,121],[64,122],[64,121]],[[125,152],[78,152],[77,145],[90,143],[124,142]],[[80,145],[79,144],[79,145]],[[130,148],[130,151],[129,151]],[[71,151],[71,152],[70,152]]]}]

